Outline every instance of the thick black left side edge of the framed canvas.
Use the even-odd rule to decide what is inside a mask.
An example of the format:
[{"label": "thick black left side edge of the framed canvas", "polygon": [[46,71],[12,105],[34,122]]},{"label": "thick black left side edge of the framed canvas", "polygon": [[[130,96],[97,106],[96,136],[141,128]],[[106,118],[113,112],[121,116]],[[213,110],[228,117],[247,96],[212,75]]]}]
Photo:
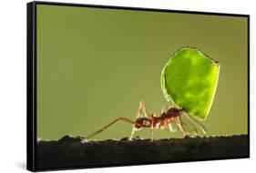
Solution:
[{"label": "thick black left side edge of the framed canvas", "polygon": [[36,2],[26,4],[26,169],[36,171]]}]

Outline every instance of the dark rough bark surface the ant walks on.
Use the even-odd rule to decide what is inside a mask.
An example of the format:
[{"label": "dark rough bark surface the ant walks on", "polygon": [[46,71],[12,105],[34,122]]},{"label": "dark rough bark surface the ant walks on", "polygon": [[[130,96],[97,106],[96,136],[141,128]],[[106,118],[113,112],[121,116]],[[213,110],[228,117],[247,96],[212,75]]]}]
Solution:
[{"label": "dark rough bark surface the ant walks on", "polygon": [[135,138],[87,141],[65,136],[38,141],[36,168],[91,168],[223,158],[248,158],[247,135],[166,138],[151,142]]}]

